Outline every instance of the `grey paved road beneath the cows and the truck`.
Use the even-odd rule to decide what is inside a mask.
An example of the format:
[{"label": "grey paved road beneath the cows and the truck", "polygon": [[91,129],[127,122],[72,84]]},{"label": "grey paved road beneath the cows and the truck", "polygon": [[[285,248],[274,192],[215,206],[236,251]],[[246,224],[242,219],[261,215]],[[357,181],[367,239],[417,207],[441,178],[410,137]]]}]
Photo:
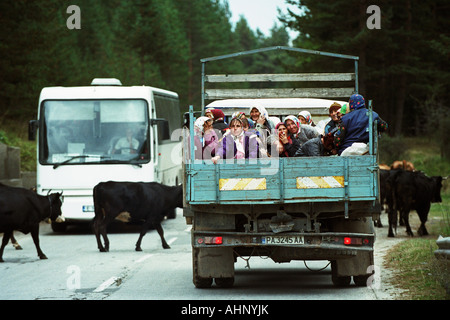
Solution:
[{"label": "grey paved road beneath the cows and the truck", "polygon": [[[24,250],[8,245],[0,263],[0,299],[19,300],[376,300],[390,299],[386,285],[337,289],[328,266],[320,272],[303,261],[286,264],[252,257],[238,259],[235,285],[196,289],[192,283],[190,228],[181,210],[163,223],[164,250],[155,230],[144,237],[143,252],[135,252],[137,226],[117,225],[109,234],[110,252],[97,250],[95,237],[86,227],[71,227],[65,234],[41,225],[41,248],[48,260],[39,260],[30,235],[16,232]],[[386,231],[384,229],[382,233]],[[378,238],[384,236],[380,234]],[[380,242],[382,243],[382,242]],[[386,248],[386,247],[384,247]],[[380,265],[380,258],[375,256]],[[307,262],[321,269],[327,261]],[[381,267],[381,266],[380,266]],[[383,275],[384,270],[381,270]],[[381,279],[383,280],[383,279]],[[183,305],[183,303],[182,303]]]}]

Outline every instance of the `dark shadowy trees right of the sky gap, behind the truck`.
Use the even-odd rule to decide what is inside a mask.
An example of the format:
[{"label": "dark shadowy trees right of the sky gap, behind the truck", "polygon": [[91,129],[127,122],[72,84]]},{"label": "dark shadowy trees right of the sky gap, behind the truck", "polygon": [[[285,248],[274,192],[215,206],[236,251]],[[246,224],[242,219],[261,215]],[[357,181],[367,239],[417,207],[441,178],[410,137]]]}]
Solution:
[{"label": "dark shadowy trees right of the sky gap, behind the truck", "polygon": [[[359,56],[359,92],[374,101],[375,111],[389,123],[390,135],[423,135],[424,122],[440,105],[446,111],[438,117],[448,115],[450,39],[446,33],[446,1],[287,2],[301,9],[300,14],[282,17],[300,32],[294,46]],[[366,26],[366,10],[373,4],[381,11],[381,29]],[[315,72],[348,72],[352,67],[345,61],[316,56],[301,57],[297,66]],[[440,132],[439,139],[447,132]]]}]

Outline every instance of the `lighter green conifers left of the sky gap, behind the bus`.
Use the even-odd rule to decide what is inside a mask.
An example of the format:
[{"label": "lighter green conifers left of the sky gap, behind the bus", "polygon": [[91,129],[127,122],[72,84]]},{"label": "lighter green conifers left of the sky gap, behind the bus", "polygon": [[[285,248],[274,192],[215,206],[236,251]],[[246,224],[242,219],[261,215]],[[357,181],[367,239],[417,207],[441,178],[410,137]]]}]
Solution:
[{"label": "lighter green conifers left of the sky gap, behind the bus", "polygon": [[[69,30],[69,5],[81,29]],[[200,59],[287,45],[284,27],[265,37],[241,18],[233,30],[226,0],[4,0],[0,2],[0,125],[36,118],[48,86],[88,85],[96,77],[175,91],[182,110],[200,104]],[[218,62],[208,72],[280,69],[285,59]]]}]

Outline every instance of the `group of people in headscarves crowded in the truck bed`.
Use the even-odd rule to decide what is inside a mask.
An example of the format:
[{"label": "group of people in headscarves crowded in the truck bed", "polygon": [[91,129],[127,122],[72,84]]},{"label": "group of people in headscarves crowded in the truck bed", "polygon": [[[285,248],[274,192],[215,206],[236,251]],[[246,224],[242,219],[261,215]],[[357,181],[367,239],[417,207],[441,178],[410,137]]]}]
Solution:
[{"label": "group of people in headscarves crowded in the truck bed", "polygon": [[[235,112],[227,125],[220,109],[207,109],[194,123],[196,159],[256,159],[265,157],[304,157],[364,154],[369,142],[369,116],[364,97],[354,94],[348,105],[333,103],[331,120],[316,130],[311,114],[302,111],[284,121],[269,117],[266,109],[252,106],[249,115]],[[387,123],[376,112],[378,132]]]}]

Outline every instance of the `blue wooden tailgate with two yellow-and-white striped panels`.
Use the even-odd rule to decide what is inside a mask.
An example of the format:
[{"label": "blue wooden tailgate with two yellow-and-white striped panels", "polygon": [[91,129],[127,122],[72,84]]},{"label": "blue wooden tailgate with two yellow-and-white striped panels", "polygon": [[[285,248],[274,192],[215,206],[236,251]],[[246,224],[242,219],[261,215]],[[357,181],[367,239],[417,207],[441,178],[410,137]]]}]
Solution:
[{"label": "blue wooden tailgate with two yellow-and-white striped panels", "polygon": [[[378,198],[376,156],[302,157],[186,163],[186,201],[258,204],[371,201]],[[374,170],[375,169],[375,170]]]}]

